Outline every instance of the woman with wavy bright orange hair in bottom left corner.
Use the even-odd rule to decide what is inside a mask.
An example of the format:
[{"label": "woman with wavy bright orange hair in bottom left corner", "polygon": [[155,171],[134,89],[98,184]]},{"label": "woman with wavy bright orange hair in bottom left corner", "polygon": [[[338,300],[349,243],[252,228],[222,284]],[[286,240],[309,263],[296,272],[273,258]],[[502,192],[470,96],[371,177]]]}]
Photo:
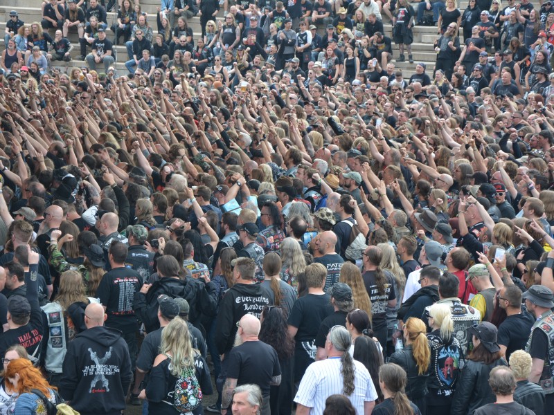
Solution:
[{"label": "woman with wavy bright orange hair in bottom left corner", "polygon": [[6,367],[4,378],[8,390],[19,395],[15,401],[14,414],[46,414],[44,400],[33,392],[33,389],[39,391],[54,405],[61,403],[61,398],[57,394],[57,387],[46,382],[40,370],[33,367],[33,363],[28,359],[12,360],[10,365]]}]

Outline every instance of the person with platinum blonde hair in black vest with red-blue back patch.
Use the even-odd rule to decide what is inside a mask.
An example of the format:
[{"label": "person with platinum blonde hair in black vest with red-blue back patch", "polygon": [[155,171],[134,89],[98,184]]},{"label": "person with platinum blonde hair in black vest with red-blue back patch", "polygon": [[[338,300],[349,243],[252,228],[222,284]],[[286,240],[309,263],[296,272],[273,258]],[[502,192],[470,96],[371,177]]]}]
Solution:
[{"label": "person with platinum blonde hair in black vest with red-blue back patch", "polygon": [[427,379],[429,390],[427,414],[449,414],[452,396],[456,390],[460,360],[463,351],[454,336],[452,311],[447,304],[435,303],[427,307],[427,323],[431,333],[427,341],[431,348],[431,369]]}]

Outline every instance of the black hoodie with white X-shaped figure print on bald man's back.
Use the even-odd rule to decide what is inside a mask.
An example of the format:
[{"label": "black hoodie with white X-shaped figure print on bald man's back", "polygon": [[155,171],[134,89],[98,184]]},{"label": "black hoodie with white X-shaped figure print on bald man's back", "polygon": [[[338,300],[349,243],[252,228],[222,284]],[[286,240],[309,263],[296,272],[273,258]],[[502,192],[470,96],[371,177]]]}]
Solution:
[{"label": "black hoodie with white X-shaped figure print on bald man's back", "polygon": [[120,415],[131,379],[131,359],[121,332],[92,327],[67,347],[60,395],[81,415]]}]

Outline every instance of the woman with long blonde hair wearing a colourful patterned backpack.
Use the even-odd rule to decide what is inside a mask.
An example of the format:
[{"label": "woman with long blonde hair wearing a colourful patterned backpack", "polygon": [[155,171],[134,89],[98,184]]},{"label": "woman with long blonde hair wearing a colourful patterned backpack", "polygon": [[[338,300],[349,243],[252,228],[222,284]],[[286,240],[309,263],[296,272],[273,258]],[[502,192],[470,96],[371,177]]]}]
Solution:
[{"label": "woman with long blonde hair wearing a colourful patterned backpack", "polygon": [[181,376],[196,376],[199,389],[193,391],[199,403],[203,395],[213,393],[206,360],[193,349],[187,322],[181,317],[175,317],[161,332],[160,352],[150,371],[148,385],[139,394],[139,398],[148,400],[149,414],[181,414],[173,406],[175,384]]}]

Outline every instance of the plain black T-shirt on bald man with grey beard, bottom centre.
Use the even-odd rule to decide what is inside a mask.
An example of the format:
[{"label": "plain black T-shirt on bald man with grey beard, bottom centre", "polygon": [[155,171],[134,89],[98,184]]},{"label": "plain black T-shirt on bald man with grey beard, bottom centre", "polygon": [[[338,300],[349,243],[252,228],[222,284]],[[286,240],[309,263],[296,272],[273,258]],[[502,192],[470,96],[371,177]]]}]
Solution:
[{"label": "plain black T-shirt on bald man with grey beard, bottom centre", "polygon": [[277,352],[260,340],[233,347],[227,359],[227,378],[237,379],[237,385],[258,385],[264,396],[269,395],[271,378],[281,374]]}]

